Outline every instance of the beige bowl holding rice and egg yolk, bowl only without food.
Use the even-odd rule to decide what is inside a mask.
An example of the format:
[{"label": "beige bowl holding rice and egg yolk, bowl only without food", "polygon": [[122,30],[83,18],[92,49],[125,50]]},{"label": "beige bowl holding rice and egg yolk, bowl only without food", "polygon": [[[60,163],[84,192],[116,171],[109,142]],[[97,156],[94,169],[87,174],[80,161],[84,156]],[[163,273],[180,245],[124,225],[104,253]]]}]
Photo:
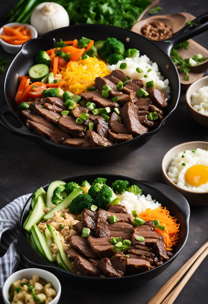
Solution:
[{"label": "beige bowl holding rice and egg yolk, bowl only without food", "polygon": [[165,156],[163,157],[162,160],[162,175],[165,180],[165,182],[180,192],[189,202],[189,204],[195,205],[195,206],[206,206],[208,205],[208,192],[194,192],[194,191],[189,191],[180,188],[177,186],[169,177],[168,177],[168,168],[170,167],[170,164],[172,162],[173,157],[177,155],[181,151],[185,150],[193,150],[193,149],[205,149],[208,150],[208,142],[206,141],[189,141],[187,143],[181,143],[172,149],[170,149]]}]

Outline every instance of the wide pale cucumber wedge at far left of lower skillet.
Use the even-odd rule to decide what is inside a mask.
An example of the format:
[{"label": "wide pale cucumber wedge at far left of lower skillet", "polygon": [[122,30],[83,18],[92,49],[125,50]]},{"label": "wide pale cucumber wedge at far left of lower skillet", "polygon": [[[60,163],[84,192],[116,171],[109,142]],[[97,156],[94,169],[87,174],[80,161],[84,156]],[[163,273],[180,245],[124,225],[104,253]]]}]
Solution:
[{"label": "wide pale cucumber wedge at far left of lower skillet", "polygon": [[27,230],[28,232],[30,232],[31,227],[33,226],[33,224],[37,224],[41,221],[41,219],[43,218],[43,216],[45,215],[45,212],[43,211],[43,208],[45,207],[45,204],[43,202],[43,199],[41,196],[38,196],[37,198],[37,203],[25,225],[25,230]]}]

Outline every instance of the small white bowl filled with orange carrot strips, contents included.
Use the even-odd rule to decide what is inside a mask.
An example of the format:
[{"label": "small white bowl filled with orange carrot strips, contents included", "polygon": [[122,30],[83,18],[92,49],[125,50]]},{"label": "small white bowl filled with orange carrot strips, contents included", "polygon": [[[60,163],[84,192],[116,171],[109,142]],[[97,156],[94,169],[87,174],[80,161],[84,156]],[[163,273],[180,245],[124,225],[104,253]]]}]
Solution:
[{"label": "small white bowl filled with orange carrot strips, contents included", "polygon": [[0,28],[0,44],[10,54],[17,54],[23,43],[33,38],[37,31],[30,24],[12,22]]}]

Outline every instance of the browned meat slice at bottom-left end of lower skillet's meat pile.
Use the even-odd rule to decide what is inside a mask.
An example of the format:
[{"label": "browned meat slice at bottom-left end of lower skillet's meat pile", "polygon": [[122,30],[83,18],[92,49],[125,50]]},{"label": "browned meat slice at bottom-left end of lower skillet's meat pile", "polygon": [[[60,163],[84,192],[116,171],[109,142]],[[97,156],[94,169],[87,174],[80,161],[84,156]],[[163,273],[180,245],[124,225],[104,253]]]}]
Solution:
[{"label": "browned meat slice at bottom-left end of lower skillet's meat pile", "polygon": [[74,265],[77,271],[81,275],[88,275],[91,277],[99,277],[99,269],[93,265],[90,261],[86,260],[84,257],[77,256],[74,260]]}]

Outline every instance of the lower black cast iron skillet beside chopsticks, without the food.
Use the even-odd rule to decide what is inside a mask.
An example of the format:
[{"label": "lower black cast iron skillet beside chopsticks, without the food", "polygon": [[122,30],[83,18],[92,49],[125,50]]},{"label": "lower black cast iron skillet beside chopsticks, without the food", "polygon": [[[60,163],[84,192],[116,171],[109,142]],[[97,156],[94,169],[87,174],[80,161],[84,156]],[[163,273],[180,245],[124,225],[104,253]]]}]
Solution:
[{"label": "lower black cast iron skillet beside chopsticks, without the food", "polygon": [[[166,206],[170,211],[172,216],[175,216],[178,219],[178,223],[180,223],[180,232],[179,232],[179,243],[175,247],[173,253],[173,257],[171,257],[164,264],[151,269],[149,271],[137,274],[130,275],[121,278],[93,278],[83,275],[78,275],[75,273],[71,273],[65,270],[62,270],[58,266],[55,266],[47,261],[45,261],[42,257],[40,257],[33,249],[30,247],[27,234],[25,230],[23,230],[23,223],[28,216],[30,209],[31,197],[27,200],[22,215],[20,219],[19,225],[19,236],[17,246],[20,251],[20,254],[24,258],[24,260],[28,263],[29,267],[43,268],[54,273],[58,278],[63,279],[65,282],[68,282],[69,285],[71,283],[79,283],[79,286],[84,286],[86,283],[88,286],[102,286],[102,288],[116,288],[124,289],[131,288],[133,286],[137,286],[143,284],[156,276],[160,275],[176,258],[179,252],[182,250],[183,246],[188,237],[189,233],[189,215],[190,208],[187,200],[173,188],[168,185],[156,183],[153,181],[137,181],[133,178],[128,178],[126,176],[114,175],[114,174],[87,174],[87,175],[79,175],[70,178],[65,178],[65,182],[74,181],[80,184],[83,180],[87,180],[90,183],[95,178],[104,177],[107,179],[107,184],[111,185],[113,181],[116,179],[125,179],[129,181],[130,184],[136,184],[141,189],[143,189],[143,194],[146,196],[148,193],[152,196],[153,199],[156,199],[162,206]],[[43,188],[46,190],[48,185]],[[83,283],[83,284],[82,284]]]}]

